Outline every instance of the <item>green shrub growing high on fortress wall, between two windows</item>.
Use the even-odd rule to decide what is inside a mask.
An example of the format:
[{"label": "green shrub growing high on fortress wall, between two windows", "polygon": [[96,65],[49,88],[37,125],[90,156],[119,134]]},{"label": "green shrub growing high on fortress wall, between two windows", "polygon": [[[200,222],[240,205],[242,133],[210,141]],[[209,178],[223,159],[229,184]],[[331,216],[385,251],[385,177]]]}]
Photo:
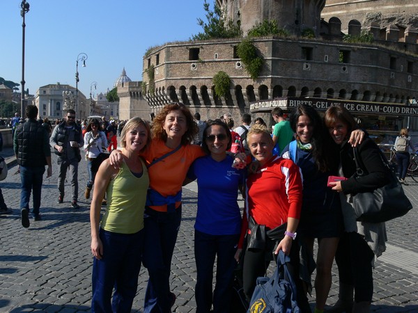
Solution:
[{"label": "green shrub growing high on fortress wall, between two windows", "polygon": [[238,44],[237,47],[238,57],[245,65],[245,70],[254,81],[258,78],[261,70],[263,69],[264,59],[257,54],[257,48],[254,42],[245,38]]}]

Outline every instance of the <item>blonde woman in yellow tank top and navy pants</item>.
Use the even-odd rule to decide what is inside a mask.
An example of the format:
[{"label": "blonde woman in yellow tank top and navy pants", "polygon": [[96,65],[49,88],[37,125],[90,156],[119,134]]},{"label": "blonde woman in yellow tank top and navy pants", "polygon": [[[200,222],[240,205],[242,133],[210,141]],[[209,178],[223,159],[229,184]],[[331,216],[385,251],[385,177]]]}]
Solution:
[{"label": "blonde woman in yellow tank top and navy pants", "polygon": [[[149,186],[148,170],[139,152],[149,143],[148,122],[132,118],[121,132],[121,154],[125,162],[115,169],[106,160],[96,175],[90,209],[94,256],[92,312],[130,312],[137,293]],[[99,225],[105,192],[107,209]]]}]

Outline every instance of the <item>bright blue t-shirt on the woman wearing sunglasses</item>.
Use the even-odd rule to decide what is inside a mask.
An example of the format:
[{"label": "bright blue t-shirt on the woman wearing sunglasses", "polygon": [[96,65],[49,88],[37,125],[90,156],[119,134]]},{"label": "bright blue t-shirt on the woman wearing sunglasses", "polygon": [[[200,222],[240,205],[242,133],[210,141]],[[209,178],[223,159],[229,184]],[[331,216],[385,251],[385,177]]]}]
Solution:
[{"label": "bright blue t-shirt on the woman wearing sunglasses", "polygon": [[245,171],[232,168],[229,155],[217,162],[210,155],[196,159],[187,177],[197,179],[197,214],[194,228],[205,234],[240,234],[241,213],[238,185],[244,184]]}]

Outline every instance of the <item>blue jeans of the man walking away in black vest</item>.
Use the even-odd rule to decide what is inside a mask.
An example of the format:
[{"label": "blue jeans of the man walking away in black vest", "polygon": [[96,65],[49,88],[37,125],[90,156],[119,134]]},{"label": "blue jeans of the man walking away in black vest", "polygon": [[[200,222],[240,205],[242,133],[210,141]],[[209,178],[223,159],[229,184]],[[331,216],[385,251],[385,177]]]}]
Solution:
[{"label": "blue jeans of the man walking away in black vest", "polygon": [[45,166],[20,166],[20,180],[22,182],[22,191],[20,193],[20,209],[29,209],[29,200],[33,190],[33,216],[39,214],[40,193],[42,191],[42,179],[45,172]]}]

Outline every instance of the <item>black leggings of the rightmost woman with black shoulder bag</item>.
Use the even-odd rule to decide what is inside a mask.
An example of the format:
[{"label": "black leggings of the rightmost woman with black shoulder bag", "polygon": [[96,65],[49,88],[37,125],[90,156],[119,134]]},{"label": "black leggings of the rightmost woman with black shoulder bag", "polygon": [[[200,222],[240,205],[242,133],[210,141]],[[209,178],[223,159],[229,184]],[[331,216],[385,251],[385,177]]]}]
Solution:
[{"label": "black leggings of the rightmost woman with black shoulder bag", "polygon": [[339,281],[354,286],[355,302],[371,301],[374,254],[363,236],[357,232],[344,232],[335,254]]}]

